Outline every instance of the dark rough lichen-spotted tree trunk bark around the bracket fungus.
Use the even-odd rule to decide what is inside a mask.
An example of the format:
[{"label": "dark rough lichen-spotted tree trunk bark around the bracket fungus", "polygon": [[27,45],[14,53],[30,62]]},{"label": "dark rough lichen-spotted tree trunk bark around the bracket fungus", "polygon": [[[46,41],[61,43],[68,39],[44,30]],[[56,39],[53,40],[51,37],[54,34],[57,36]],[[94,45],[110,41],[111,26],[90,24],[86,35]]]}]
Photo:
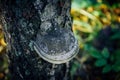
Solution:
[{"label": "dark rough lichen-spotted tree trunk bark around the bracket fungus", "polygon": [[[42,31],[41,25],[45,22],[71,28],[70,0],[1,0],[0,6],[8,43],[11,80],[52,79],[52,64],[37,55],[32,41],[38,31]],[[55,79],[67,79],[65,71],[65,64],[57,65]]]}]

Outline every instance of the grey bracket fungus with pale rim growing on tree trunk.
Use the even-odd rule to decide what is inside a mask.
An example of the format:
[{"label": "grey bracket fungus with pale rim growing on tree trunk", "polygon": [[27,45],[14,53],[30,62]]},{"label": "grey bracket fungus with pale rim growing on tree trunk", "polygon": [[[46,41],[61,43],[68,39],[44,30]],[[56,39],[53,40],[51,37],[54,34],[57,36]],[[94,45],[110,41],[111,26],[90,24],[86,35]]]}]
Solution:
[{"label": "grey bracket fungus with pale rim growing on tree trunk", "polygon": [[71,30],[56,27],[47,34],[37,34],[34,49],[38,55],[53,64],[70,61],[79,51],[78,41]]}]

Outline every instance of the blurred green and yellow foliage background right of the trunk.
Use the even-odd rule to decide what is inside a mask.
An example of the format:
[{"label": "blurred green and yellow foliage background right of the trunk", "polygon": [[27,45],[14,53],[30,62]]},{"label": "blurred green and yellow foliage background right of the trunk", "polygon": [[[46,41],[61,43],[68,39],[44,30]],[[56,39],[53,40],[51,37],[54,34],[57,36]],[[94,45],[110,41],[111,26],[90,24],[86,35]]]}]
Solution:
[{"label": "blurred green and yellow foliage background right of the trunk", "polygon": [[71,76],[120,80],[120,1],[72,0],[71,15],[80,47]]}]

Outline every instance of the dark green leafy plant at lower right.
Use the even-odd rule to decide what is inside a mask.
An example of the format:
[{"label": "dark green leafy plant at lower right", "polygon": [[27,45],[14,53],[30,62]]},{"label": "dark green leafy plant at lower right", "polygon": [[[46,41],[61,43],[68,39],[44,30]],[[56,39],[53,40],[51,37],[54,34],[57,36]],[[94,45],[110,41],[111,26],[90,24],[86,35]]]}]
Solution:
[{"label": "dark green leafy plant at lower right", "polygon": [[[90,46],[89,46],[90,47]],[[95,66],[103,67],[102,73],[110,72],[111,70],[120,71],[120,50],[116,50],[114,55],[110,55],[107,48],[104,48],[101,52],[95,48],[89,48],[91,57],[95,58]],[[108,63],[111,61],[111,63]]]}]

